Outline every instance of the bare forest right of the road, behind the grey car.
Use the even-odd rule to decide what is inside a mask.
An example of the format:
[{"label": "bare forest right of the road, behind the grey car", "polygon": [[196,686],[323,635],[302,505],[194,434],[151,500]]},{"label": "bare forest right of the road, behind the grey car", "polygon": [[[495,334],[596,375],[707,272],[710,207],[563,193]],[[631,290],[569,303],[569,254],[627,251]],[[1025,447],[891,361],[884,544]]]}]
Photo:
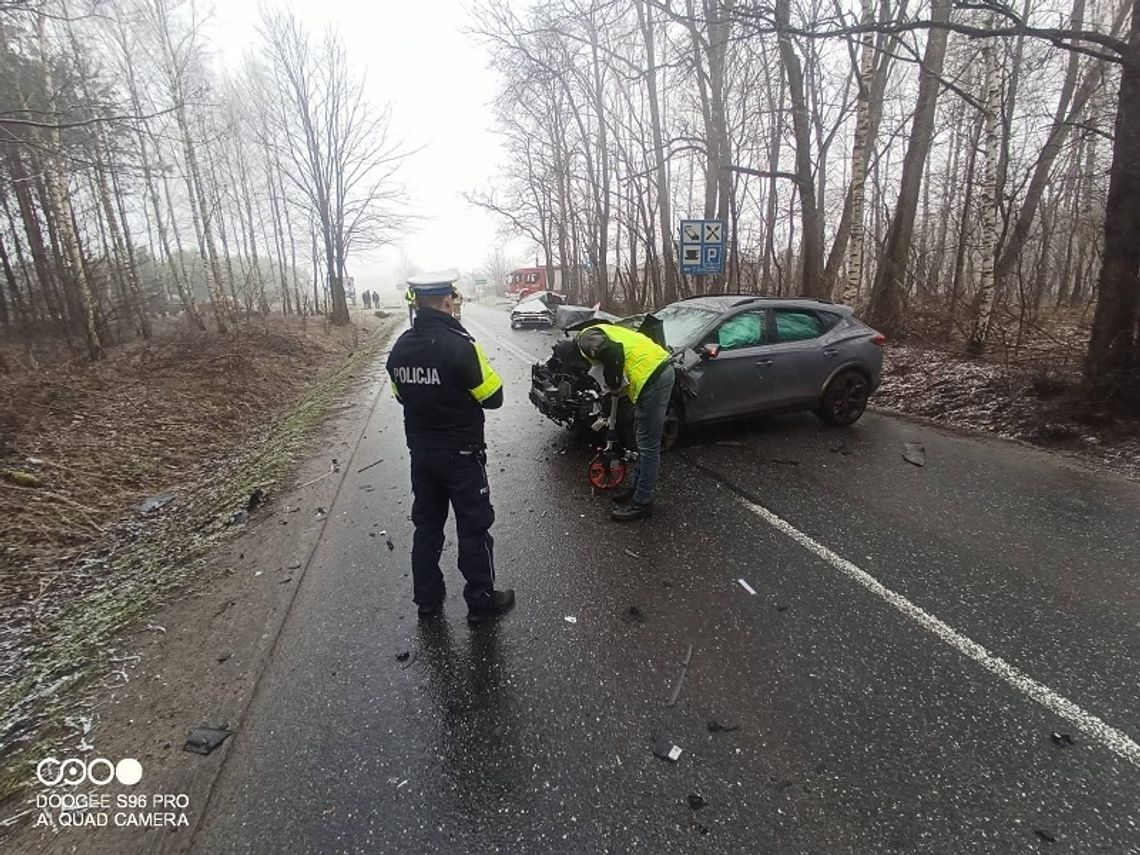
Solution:
[{"label": "bare forest right of the road, behind the grey car", "polygon": [[[488,0],[510,180],[474,202],[578,299],[830,298],[974,353],[1138,363],[1140,7]],[[730,223],[677,274],[682,217]]]}]

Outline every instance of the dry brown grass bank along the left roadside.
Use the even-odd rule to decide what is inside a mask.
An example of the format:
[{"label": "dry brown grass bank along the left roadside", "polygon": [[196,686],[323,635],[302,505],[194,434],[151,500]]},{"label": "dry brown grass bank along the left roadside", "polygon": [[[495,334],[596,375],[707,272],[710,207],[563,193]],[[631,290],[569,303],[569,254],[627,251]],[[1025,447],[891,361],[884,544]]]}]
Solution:
[{"label": "dry brown grass bank along the left roadside", "polygon": [[[0,798],[107,645],[192,578],[370,361],[388,324],[355,320],[275,318],[0,377]],[[174,500],[133,511],[155,494]]]}]

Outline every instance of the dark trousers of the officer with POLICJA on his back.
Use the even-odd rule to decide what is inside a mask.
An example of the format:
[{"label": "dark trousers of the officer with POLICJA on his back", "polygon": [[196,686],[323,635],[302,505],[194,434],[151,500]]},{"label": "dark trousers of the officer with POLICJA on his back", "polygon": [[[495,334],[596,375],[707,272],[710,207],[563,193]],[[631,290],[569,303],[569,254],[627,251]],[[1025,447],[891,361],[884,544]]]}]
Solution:
[{"label": "dark trousers of the officer with POLICJA on his back", "polygon": [[495,522],[483,451],[412,450],[412,577],[417,605],[443,600],[443,523],[448,504],[455,508],[459,537],[459,572],[466,580],[463,597],[473,611],[486,609],[495,589]]}]

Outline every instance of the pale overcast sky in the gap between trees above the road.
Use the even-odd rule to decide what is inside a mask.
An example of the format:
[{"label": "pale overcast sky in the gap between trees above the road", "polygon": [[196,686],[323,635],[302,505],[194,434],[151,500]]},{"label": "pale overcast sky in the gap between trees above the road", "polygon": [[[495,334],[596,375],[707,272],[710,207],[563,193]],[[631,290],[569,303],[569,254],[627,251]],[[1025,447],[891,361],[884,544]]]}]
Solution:
[{"label": "pale overcast sky in the gap between trees above the road", "polygon": [[[269,0],[277,8],[280,3]],[[409,158],[404,180],[424,217],[412,234],[396,236],[422,269],[482,264],[498,223],[463,199],[486,187],[504,156],[492,133],[495,74],[486,52],[465,35],[465,0],[294,0],[298,15],[319,32],[334,22],[353,63],[367,71],[377,104],[393,108],[393,137],[423,150]],[[214,6],[211,41],[230,58],[254,44],[258,0]],[[520,258],[526,245],[516,243]],[[350,259],[350,275],[385,279],[400,261],[396,250]]]}]

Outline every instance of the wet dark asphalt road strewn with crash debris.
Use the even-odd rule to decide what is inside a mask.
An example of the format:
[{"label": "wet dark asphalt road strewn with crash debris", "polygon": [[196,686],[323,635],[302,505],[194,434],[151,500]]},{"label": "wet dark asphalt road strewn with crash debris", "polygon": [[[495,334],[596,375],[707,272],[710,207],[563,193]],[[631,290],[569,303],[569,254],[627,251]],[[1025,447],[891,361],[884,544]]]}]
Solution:
[{"label": "wet dark asphalt road strewn with crash debris", "polygon": [[553,336],[464,312],[506,382],[489,469],[519,605],[469,629],[453,569],[446,621],[417,625],[377,388],[196,852],[1140,852],[1140,488],[795,416],[689,437],[657,515],[619,527],[527,400]]}]

